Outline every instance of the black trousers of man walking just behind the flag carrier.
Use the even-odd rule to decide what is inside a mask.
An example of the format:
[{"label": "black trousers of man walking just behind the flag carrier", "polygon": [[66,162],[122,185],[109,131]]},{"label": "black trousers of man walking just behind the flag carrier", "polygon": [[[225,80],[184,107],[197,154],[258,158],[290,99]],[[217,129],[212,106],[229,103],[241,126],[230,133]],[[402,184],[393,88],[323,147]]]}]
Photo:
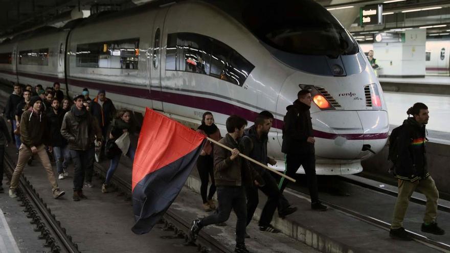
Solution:
[{"label": "black trousers of man walking just behind the flag carrier", "polygon": [[247,225],[252,221],[253,214],[258,207],[259,196],[258,189],[261,190],[266,196],[267,201],[264,204],[264,208],[261,212],[259,219],[259,226],[268,226],[272,222],[275,210],[280,203],[281,192],[278,190],[277,182],[275,178],[268,172],[264,172],[262,178],[265,181],[263,187],[247,186],[245,192],[247,194]]}]

